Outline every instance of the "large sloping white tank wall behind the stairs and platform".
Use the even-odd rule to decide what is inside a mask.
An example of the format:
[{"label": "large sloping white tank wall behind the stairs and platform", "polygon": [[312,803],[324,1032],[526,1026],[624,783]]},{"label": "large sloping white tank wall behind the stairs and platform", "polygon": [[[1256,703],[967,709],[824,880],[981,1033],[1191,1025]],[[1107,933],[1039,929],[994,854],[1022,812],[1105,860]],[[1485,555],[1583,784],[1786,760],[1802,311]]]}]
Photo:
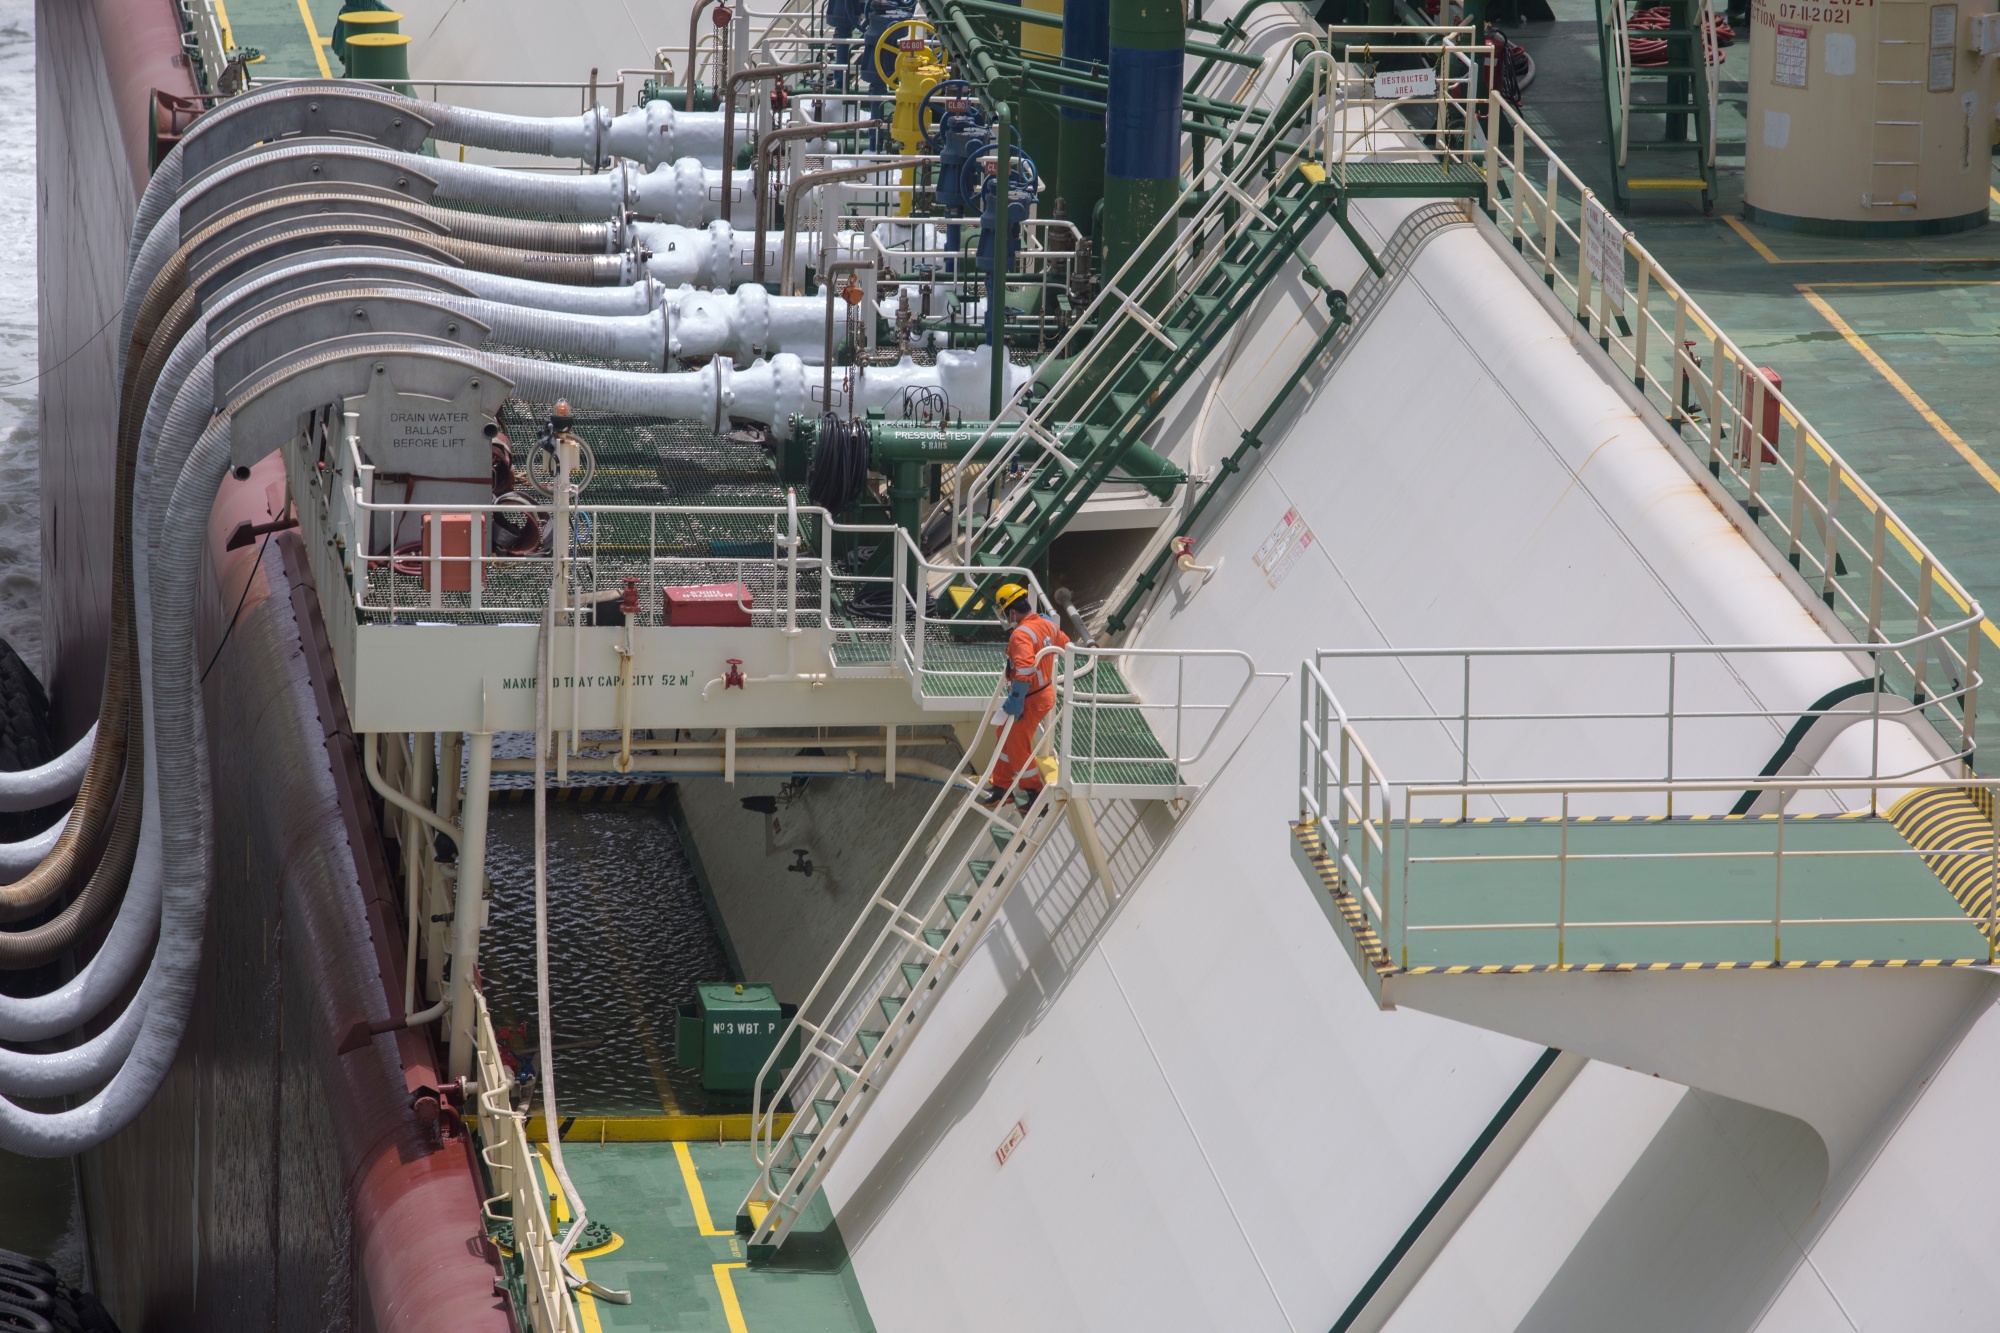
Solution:
[{"label": "large sloping white tank wall behind the stairs and platform", "polygon": [[[1380,246],[1408,208],[1360,212]],[[1338,236],[1316,258],[1340,284],[1358,278]],[[1262,406],[1250,386],[1304,346],[1306,300],[1274,290],[1234,348],[1230,410],[1196,428],[1190,392],[1162,440],[1188,456],[1200,438],[1194,460],[1212,464]],[[1302,396],[1202,534],[1216,576],[1168,590],[1136,642],[1242,646],[1286,671],[1318,646],[1826,640],[1802,590],[1470,226],[1432,240]],[[1250,554],[1288,508],[1316,544],[1272,588]],[[1508,689],[1578,707],[1616,693],[1622,671],[1522,673]],[[1796,711],[1858,675],[1828,658],[1746,662],[1684,675],[1682,699]],[[1376,671],[1344,689],[1384,711],[1418,685],[1432,683]],[[1296,707],[1290,685],[1260,683],[1200,803],[1080,945],[1058,935],[1090,903],[1074,867],[1044,899],[1016,897],[908,1053],[828,1187],[884,1331],[1324,1329],[1534,1059],[1372,1007],[1288,857]],[[1754,771],[1780,735],[1684,737],[1684,759]],[[1914,739],[1896,749],[1924,763]],[[1640,753],[1530,735],[1494,763],[1610,775]],[[1456,769],[1424,737],[1378,757],[1392,773]],[[1826,763],[1856,759],[1848,747]],[[1806,1225],[1824,1181],[1816,1139],[1738,1103],[1588,1073],[1448,1251],[1436,1281],[1456,1289],[1420,1287],[1426,1305],[1398,1327],[1442,1327],[1424,1309],[1470,1327],[1592,1327],[1574,1317],[1602,1313],[1636,1269],[1576,1265],[1630,1255],[1668,1223],[1762,1247],[1762,1267],[1730,1283],[1678,1283],[1680,1327],[1754,1317],[1794,1259],[1774,1237]],[[1016,1123],[1026,1139],[998,1165]],[[1744,1145],[1760,1153],[1758,1189],[1652,1203],[1648,1181],[1724,1183]],[[1570,1179],[1550,1187],[1550,1169]]]}]

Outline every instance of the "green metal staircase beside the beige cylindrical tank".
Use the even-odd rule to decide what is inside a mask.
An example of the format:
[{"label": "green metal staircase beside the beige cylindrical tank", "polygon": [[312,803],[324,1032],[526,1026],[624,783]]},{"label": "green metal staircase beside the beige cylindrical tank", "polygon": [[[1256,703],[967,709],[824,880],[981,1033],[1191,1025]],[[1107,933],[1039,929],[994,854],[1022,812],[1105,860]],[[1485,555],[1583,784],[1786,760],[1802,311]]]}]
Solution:
[{"label": "green metal staircase beside the beige cylindrical tank", "polygon": [[[1716,198],[1716,100],[1720,86],[1712,64],[1714,6],[1710,0],[1668,0],[1666,28],[1632,28],[1628,0],[1598,0],[1598,56],[1604,66],[1604,122],[1612,154],[1612,196],[1620,210],[1632,192],[1700,192],[1702,208]],[[1664,64],[1634,64],[1632,38],[1666,42]],[[1658,100],[1634,96],[1660,88]],[[1634,138],[1640,116],[1664,116],[1660,138]],[[1692,130],[1692,136],[1690,136]],[[1688,154],[1680,174],[1634,170],[1646,154]]]}]

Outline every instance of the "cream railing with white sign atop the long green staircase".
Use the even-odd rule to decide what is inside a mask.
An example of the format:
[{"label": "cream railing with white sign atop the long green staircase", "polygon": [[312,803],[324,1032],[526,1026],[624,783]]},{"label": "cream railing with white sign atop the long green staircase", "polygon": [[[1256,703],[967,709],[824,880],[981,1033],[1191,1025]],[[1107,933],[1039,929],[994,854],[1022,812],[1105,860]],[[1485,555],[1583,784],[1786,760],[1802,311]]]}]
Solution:
[{"label": "cream railing with white sign atop the long green staircase", "polygon": [[1336,184],[1480,162],[1490,48],[1472,26],[1340,26],[1328,40],[1334,112],[1320,132]]}]

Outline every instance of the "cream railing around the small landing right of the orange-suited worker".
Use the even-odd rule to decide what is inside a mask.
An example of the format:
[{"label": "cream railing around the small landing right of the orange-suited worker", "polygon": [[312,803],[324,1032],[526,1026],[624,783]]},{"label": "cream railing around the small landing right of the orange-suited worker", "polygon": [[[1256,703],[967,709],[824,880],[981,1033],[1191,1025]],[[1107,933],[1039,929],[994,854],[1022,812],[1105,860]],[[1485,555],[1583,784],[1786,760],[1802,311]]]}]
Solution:
[{"label": "cream railing around the small landing right of the orange-suited worker", "polygon": [[1052,727],[1062,783],[1086,797],[1194,791],[1258,675],[1274,673],[1238,648],[1062,648]]}]

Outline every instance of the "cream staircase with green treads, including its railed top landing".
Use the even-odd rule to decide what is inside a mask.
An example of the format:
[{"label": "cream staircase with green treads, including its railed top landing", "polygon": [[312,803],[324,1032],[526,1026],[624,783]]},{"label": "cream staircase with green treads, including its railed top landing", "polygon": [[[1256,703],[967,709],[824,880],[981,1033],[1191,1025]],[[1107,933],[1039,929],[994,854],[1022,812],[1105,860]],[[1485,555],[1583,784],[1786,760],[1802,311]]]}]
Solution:
[{"label": "cream staircase with green treads, including its railed top landing", "polygon": [[[968,749],[778,1039],[778,1053],[796,1043],[796,1063],[772,1083],[774,1053],[756,1081],[750,1137],[760,1173],[736,1213],[752,1261],[768,1259],[804,1217],[1056,831],[1070,831],[1082,865],[1114,899],[1092,803],[1194,797],[1198,775],[1216,763],[1216,739],[1258,679],[1256,662],[1234,648],[1070,646],[1050,654],[1058,695],[1042,737],[1054,755],[1036,765],[1044,787],[986,809],[978,795],[992,759]],[[1112,658],[1160,681],[1156,697],[1142,699]],[[1000,699],[994,691],[978,733],[998,721]]]}]

